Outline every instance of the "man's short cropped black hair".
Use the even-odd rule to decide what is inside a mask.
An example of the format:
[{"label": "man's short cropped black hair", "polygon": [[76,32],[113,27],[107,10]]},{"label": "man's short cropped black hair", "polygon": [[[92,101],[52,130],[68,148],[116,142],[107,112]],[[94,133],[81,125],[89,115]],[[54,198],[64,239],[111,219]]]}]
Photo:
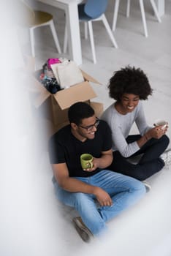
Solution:
[{"label": "man's short cropped black hair", "polygon": [[91,116],[94,116],[94,109],[86,102],[76,102],[68,110],[69,122],[77,125],[82,123],[83,118]]}]

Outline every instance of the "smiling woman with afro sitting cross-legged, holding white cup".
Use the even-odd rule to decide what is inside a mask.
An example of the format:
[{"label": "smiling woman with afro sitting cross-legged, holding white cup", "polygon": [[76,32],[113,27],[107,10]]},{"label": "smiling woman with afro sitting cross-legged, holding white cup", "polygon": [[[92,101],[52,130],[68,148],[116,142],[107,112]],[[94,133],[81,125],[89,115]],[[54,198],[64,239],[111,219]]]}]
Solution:
[{"label": "smiling woman with afro sitting cross-legged, holding white cup", "polygon": [[[171,159],[171,151],[164,152],[170,143],[165,135],[168,126],[149,127],[145,121],[141,100],[148,99],[153,90],[140,68],[128,66],[115,72],[108,88],[115,99],[102,115],[113,133],[113,163],[108,169],[143,181]],[[134,122],[140,134],[129,135]],[[137,164],[128,161],[140,154]]]}]

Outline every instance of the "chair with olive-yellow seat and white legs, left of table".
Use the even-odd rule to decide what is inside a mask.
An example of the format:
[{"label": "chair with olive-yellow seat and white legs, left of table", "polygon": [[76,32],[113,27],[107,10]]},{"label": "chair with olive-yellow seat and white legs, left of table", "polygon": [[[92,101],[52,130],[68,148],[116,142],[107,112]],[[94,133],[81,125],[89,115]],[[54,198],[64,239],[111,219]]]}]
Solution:
[{"label": "chair with olive-yellow seat and white legs, left of table", "polygon": [[[61,47],[58,42],[58,36],[56,34],[56,29],[53,23],[53,15],[51,15],[48,12],[41,12],[41,11],[34,11],[31,9],[31,7],[26,4],[25,1],[23,1],[23,4],[25,5],[26,14],[27,14],[27,26],[29,27],[30,31],[30,40],[31,40],[31,54],[33,57],[35,57],[35,50],[34,50],[34,29],[37,29],[41,26],[50,26],[50,30],[53,34],[53,39],[56,44],[56,48],[58,50],[58,53],[61,53]],[[28,17],[28,11],[30,12],[30,15]]]}]

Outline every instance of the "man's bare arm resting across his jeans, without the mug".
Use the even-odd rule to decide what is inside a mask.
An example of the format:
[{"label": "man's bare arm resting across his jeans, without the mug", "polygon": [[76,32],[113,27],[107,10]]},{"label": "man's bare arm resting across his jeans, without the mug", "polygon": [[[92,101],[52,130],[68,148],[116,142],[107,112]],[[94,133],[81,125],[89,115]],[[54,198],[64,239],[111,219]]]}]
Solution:
[{"label": "man's bare arm resting across his jeans, without the mug", "polygon": [[91,186],[79,181],[76,178],[69,177],[68,168],[66,163],[53,164],[53,174],[58,181],[58,185],[68,192],[82,192],[87,194],[93,194],[99,201],[101,206],[111,206],[113,204],[110,195],[100,187]]}]

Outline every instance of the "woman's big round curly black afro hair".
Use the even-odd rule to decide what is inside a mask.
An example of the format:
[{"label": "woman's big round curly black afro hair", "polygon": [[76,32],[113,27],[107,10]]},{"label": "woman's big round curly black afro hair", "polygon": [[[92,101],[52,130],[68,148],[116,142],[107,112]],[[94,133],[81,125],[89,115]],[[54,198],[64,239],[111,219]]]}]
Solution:
[{"label": "woman's big round curly black afro hair", "polygon": [[108,89],[110,97],[117,101],[121,100],[123,94],[135,94],[140,99],[148,99],[153,92],[148,77],[142,69],[130,66],[114,72],[113,77],[110,78]]}]

